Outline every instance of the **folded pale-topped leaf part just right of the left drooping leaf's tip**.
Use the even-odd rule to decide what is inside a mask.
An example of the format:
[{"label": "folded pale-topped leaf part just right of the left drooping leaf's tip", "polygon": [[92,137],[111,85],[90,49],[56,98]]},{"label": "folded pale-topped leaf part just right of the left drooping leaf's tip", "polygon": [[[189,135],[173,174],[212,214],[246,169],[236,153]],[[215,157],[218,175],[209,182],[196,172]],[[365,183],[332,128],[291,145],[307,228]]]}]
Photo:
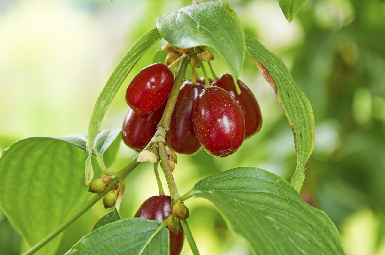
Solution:
[{"label": "folded pale-topped leaf part just right of the left drooping leaf's tip", "polygon": [[110,167],[114,162],[121,139],[121,129],[106,129],[97,134],[94,154],[102,171],[106,172],[107,167]]}]

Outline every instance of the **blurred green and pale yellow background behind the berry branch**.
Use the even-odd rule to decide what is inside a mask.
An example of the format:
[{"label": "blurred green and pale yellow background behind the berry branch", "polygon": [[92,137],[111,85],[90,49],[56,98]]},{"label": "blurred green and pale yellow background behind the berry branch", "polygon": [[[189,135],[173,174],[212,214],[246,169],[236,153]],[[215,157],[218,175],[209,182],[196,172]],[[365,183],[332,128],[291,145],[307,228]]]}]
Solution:
[{"label": "blurred green and pale yellow background behind the berry branch", "polygon": [[[302,195],[336,224],[346,254],[385,254],[385,2],[307,0],[290,24],[276,0],[229,3],[245,32],[283,59],[313,106],[316,142]],[[189,4],[0,0],[0,150],[27,136],[87,132],[96,98],[124,53],[155,27],[155,18]],[[121,127],[128,110],[127,84],[164,43],[132,70],[103,129]],[[219,58],[213,64],[217,75],[228,72]],[[293,136],[274,91],[248,56],[240,79],[258,99],[262,130],[226,158],[204,151],[179,156],[174,176],[181,194],[206,176],[238,166],[260,167],[290,180],[296,162]],[[134,155],[122,144],[111,170],[119,170]],[[152,167],[141,164],[127,179],[122,217],[133,217],[156,194]],[[211,204],[190,199],[186,205],[201,254],[250,254]],[[89,233],[106,212],[99,201],[65,231],[57,254]],[[26,249],[0,212],[0,254]],[[191,254],[187,244],[182,254]]]}]

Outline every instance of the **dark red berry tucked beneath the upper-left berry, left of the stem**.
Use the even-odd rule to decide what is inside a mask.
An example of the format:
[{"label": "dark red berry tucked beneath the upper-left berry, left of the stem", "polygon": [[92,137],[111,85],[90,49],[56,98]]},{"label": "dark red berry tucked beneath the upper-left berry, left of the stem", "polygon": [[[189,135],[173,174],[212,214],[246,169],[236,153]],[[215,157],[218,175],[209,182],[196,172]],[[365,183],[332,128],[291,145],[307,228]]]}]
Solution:
[{"label": "dark red berry tucked beneath the upper-left berry, left of the stem", "polygon": [[129,109],[123,122],[122,138],[124,143],[135,151],[141,151],[150,142],[156,132],[156,126],[162,118],[166,104],[154,113],[141,115]]}]

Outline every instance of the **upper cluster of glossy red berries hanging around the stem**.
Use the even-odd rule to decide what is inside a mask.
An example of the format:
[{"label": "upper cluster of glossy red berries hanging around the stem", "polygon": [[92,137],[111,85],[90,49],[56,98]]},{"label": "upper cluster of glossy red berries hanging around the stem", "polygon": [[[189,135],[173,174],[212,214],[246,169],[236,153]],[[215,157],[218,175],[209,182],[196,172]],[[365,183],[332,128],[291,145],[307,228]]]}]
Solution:
[{"label": "upper cluster of glossy red berries hanging around the stem", "polygon": [[[141,151],[150,142],[173,81],[172,72],[162,63],[147,66],[132,79],[126,91],[131,109],[122,130],[127,146]],[[229,74],[209,83],[205,88],[202,77],[181,86],[166,135],[167,146],[176,152],[194,154],[203,147],[213,156],[226,157],[261,129],[258,103],[242,81],[238,80],[240,94]]]}]

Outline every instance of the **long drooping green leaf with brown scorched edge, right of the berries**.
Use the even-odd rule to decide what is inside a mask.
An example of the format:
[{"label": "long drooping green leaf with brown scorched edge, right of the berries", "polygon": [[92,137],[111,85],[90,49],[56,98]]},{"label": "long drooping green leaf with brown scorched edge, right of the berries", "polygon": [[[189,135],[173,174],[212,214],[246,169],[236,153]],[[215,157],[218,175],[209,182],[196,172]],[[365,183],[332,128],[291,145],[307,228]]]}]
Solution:
[{"label": "long drooping green leaf with brown scorched edge, right of the berries", "polygon": [[305,164],[314,147],[315,124],[310,102],[278,56],[249,35],[246,35],[246,50],[263,77],[273,87],[278,103],[293,130],[297,166],[291,184],[300,192],[305,180]]}]

